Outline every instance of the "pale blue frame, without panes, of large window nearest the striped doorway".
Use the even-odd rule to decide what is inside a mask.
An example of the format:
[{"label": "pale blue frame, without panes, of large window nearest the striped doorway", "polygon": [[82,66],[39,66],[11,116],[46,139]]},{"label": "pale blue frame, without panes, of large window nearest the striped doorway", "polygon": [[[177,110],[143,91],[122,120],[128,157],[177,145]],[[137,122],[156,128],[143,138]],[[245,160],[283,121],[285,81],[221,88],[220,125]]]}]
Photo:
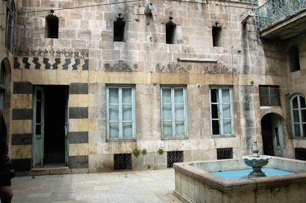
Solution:
[{"label": "pale blue frame, without panes, of large window nearest the striped doorway", "polygon": [[[118,88],[118,96],[119,96],[119,138],[118,139],[110,139],[109,138],[109,88]],[[122,122],[122,88],[132,88],[132,138],[123,138],[123,122]],[[121,93],[120,93],[121,92]],[[106,141],[107,142],[134,142],[136,141],[136,122],[135,122],[135,85],[129,84],[107,84],[106,85]]]}]

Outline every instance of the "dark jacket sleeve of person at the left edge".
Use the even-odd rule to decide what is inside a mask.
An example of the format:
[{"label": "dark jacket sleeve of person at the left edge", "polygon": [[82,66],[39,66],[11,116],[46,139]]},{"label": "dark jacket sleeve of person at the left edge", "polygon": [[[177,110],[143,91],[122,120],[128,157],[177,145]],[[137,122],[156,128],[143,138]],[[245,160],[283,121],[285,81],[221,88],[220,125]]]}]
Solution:
[{"label": "dark jacket sleeve of person at the left edge", "polygon": [[15,172],[8,157],[8,144],[6,143],[7,129],[1,111],[0,116],[0,186],[10,186]]}]

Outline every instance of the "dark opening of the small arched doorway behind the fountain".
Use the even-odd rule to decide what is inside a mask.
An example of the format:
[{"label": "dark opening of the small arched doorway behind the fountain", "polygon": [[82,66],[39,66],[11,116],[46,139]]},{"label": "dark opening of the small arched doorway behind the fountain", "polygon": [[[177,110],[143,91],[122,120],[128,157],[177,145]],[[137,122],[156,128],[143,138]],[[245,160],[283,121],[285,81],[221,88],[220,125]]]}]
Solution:
[{"label": "dark opening of the small arched doorway behind the fountain", "polygon": [[261,119],[261,136],[263,154],[274,156],[273,137],[271,131],[271,114],[266,114]]}]

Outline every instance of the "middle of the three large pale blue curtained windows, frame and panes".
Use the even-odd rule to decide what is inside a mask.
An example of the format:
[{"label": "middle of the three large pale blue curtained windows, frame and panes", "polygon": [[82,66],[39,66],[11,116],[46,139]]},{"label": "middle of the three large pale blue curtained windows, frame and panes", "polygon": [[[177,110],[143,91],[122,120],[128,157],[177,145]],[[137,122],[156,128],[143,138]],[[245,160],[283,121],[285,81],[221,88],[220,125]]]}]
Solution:
[{"label": "middle of the three large pale blue curtained windows, frame and panes", "polygon": [[187,137],[186,87],[161,87],[161,133],[163,139]]}]

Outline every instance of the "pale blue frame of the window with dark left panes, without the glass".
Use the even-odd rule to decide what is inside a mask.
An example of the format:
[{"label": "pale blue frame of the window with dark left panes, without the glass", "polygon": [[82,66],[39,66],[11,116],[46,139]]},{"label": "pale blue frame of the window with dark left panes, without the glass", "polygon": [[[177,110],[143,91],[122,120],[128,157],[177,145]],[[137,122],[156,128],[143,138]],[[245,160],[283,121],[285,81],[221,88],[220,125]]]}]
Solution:
[{"label": "pale blue frame of the window with dark left panes, without the glass", "polygon": [[[211,102],[211,89],[219,89],[219,102]],[[232,134],[223,134],[223,102],[222,102],[222,89],[229,89],[229,107],[230,107],[230,120],[231,121],[231,130]],[[221,91],[220,91],[221,90]],[[212,104],[219,104],[219,119],[212,118]],[[227,103],[226,103],[227,104]],[[223,86],[223,85],[211,85],[209,86],[209,111],[210,111],[210,131],[212,138],[220,138],[220,137],[235,137],[234,133],[234,105],[233,105],[233,88],[232,86]],[[213,120],[220,120],[220,133],[221,134],[213,134]],[[222,121],[222,122],[221,122]]]}]

